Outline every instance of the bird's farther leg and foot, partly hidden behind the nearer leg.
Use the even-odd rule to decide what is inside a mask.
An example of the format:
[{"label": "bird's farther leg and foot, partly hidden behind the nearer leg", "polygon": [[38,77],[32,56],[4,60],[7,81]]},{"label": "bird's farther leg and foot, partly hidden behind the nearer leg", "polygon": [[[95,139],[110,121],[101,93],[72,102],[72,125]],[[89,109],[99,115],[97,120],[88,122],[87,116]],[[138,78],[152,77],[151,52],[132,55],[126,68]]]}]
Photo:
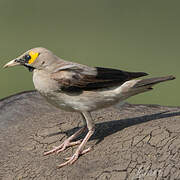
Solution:
[{"label": "bird's farther leg and foot, partly hidden behind the nearer leg", "polygon": [[75,139],[77,136],[79,136],[86,129],[86,123],[85,123],[86,121],[84,120],[84,116],[83,116],[83,122],[84,122],[84,127],[83,128],[79,129],[76,133],[74,133],[69,138],[67,138],[60,146],[56,146],[52,150],[50,150],[48,152],[45,152],[44,155],[49,155],[49,154],[52,154],[54,152],[59,153],[59,152],[64,151],[67,147],[80,144],[81,140],[78,140],[78,141],[75,141],[75,142],[71,142],[71,141],[73,139]]}]

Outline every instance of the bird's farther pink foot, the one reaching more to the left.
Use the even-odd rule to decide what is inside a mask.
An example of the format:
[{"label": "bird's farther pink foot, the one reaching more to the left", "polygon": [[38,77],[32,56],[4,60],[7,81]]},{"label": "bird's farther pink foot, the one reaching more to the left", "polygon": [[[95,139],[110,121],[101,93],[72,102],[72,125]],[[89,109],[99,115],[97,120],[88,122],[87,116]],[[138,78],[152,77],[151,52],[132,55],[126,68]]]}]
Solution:
[{"label": "bird's farther pink foot, the one reaching more to the left", "polygon": [[78,144],[81,144],[81,140],[75,141],[75,142],[70,142],[69,139],[66,139],[60,146],[55,146],[52,150],[50,150],[50,151],[48,151],[48,152],[45,152],[45,153],[44,153],[44,156],[49,155],[49,154],[52,154],[52,153],[54,153],[54,152],[56,152],[56,153],[62,152],[62,151],[64,151],[67,147],[75,146],[75,145],[78,145]]}]

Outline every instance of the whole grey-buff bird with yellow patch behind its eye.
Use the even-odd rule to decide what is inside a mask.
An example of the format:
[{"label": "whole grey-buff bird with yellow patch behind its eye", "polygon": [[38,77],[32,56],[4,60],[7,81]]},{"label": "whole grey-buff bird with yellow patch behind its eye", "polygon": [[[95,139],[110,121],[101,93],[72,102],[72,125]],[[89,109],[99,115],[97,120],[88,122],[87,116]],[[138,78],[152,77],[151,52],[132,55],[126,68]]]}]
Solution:
[{"label": "whole grey-buff bird with yellow patch behind its eye", "polygon": [[[128,72],[105,67],[66,61],[52,51],[36,47],[4,65],[4,68],[22,65],[33,72],[35,89],[53,106],[82,115],[83,126],[62,144],[44,153],[59,153],[79,145],[75,153],[58,165],[59,168],[73,164],[79,156],[91,151],[85,145],[95,131],[91,112],[106,108],[139,93],[150,91],[157,83],[173,80],[173,75],[137,79],[148,75],[145,72]],[[73,141],[88,129],[84,139]]]}]

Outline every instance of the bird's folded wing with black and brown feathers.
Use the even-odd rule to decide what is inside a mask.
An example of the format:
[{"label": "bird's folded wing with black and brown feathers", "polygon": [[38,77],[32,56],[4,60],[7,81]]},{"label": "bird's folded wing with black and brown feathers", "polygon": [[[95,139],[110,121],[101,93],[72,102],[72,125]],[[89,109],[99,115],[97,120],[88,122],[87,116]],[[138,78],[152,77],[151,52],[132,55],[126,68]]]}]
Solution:
[{"label": "bird's folded wing with black and brown feathers", "polygon": [[146,76],[144,72],[127,72],[117,69],[67,65],[58,68],[51,77],[58,81],[62,90],[95,90],[121,85],[124,82]]}]

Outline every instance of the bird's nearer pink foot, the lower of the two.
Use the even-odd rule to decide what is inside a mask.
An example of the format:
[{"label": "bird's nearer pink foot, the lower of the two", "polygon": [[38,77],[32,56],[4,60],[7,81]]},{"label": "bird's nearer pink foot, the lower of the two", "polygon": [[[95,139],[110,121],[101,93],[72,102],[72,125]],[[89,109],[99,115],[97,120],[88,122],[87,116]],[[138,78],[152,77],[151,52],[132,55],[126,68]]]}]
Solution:
[{"label": "bird's nearer pink foot, the lower of the two", "polygon": [[80,155],[83,155],[83,154],[85,154],[85,153],[88,153],[89,151],[91,151],[91,149],[92,149],[92,148],[89,147],[89,148],[87,148],[87,149],[85,149],[85,150],[83,150],[83,151],[77,150],[77,151],[73,154],[72,157],[65,158],[67,161],[64,162],[64,163],[62,163],[62,164],[60,164],[60,165],[58,165],[57,167],[58,167],[58,168],[61,168],[61,167],[66,166],[66,165],[68,165],[68,164],[73,164],[73,163],[79,158]]}]

